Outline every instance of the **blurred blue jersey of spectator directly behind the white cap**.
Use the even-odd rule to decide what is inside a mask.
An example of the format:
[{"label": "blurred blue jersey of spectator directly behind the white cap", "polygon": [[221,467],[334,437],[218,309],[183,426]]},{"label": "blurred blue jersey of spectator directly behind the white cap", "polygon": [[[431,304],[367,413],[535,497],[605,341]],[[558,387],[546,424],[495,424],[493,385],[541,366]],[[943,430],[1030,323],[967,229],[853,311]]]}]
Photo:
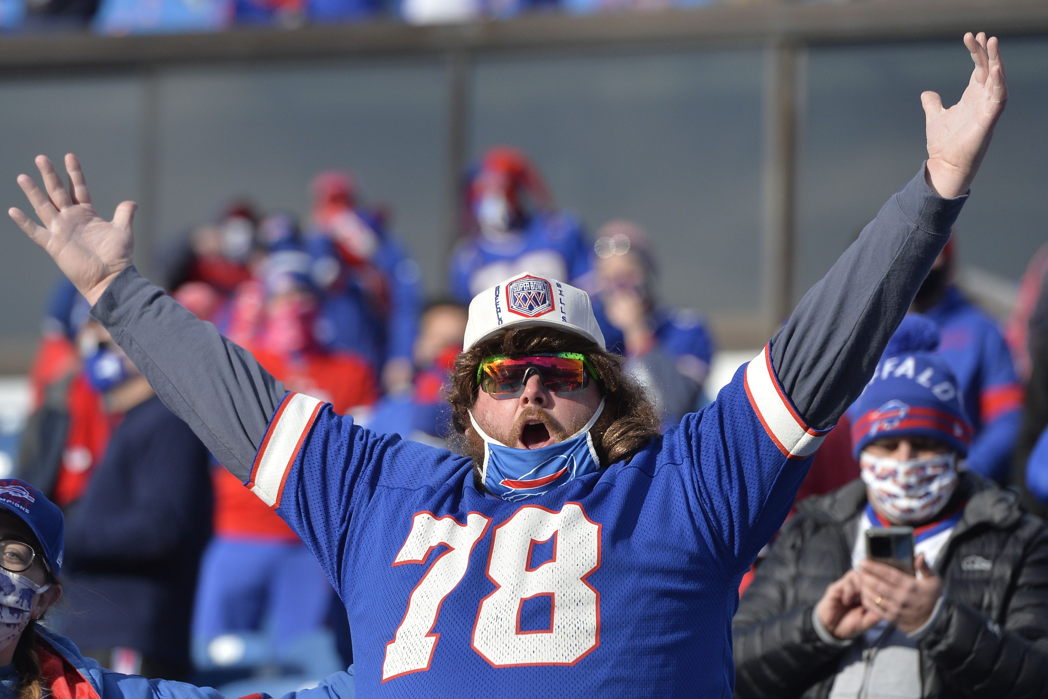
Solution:
[{"label": "blurred blue jersey of spectator directly behind the white cap", "polygon": [[593,246],[578,220],[566,214],[537,214],[524,231],[504,240],[478,235],[456,246],[449,289],[463,304],[486,288],[522,271],[590,290]]}]

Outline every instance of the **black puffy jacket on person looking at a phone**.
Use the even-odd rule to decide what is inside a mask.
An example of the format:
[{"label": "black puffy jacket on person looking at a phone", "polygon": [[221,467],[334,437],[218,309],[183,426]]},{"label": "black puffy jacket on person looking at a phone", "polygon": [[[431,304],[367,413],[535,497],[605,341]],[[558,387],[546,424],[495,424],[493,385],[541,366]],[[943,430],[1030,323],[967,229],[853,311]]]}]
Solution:
[{"label": "black puffy jacket on person looking at a phone", "polygon": [[[1048,527],[975,474],[955,498],[967,504],[936,561],[944,600],[918,642],[922,696],[1048,697]],[[811,613],[851,567],[864,507],[855,480],[783,527],[735,615],[737,697],[829,696],[845,649],[818,638]]]}]

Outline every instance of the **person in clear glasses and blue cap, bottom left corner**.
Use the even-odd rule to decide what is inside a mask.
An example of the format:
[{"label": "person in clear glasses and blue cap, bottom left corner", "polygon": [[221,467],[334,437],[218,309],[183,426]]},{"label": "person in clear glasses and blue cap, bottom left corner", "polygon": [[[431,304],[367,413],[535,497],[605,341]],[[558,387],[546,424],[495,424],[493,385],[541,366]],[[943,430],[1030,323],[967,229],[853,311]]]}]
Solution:
[{"label": "person in clear glasses and blue cap, bottom left corner", "polygon": [[[58,505],[25,481],[0,480],[0,699],[225,699],[211,687],[110,672],[45,628],[62,597],[64,536]],[[340,672],[283,699],[353,696],[352,675]]]}]

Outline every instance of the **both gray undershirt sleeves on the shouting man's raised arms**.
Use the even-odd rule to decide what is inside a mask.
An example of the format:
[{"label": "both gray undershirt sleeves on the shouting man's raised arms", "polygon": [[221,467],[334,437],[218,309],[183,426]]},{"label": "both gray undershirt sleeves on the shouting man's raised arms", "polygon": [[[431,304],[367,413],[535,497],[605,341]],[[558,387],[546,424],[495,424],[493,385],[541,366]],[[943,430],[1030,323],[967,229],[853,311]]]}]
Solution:
[{"label": "both gray undershirt sleeves on the shouting man's raised arms", "polygon": [[[861,392],[966,198],[936,195],[922,166],[776,334],[776,375],[809,425],[832,427]],[[91,312],[165,405],[246,479],[283,385],[133,266]]]}]

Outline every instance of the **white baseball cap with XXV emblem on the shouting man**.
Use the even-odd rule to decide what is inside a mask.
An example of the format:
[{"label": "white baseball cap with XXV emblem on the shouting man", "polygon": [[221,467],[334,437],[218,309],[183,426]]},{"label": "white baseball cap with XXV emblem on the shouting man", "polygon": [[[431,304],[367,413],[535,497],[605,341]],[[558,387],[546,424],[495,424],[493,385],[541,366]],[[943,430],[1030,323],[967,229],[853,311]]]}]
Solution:
[{"label": "white baseball cap with XXV emblem on the shouting man", "polygon": [[481,291],[470,302],[465,349],[510,325],[559,328],[607,349],[589,294],[570,284],[525,271]]}]

